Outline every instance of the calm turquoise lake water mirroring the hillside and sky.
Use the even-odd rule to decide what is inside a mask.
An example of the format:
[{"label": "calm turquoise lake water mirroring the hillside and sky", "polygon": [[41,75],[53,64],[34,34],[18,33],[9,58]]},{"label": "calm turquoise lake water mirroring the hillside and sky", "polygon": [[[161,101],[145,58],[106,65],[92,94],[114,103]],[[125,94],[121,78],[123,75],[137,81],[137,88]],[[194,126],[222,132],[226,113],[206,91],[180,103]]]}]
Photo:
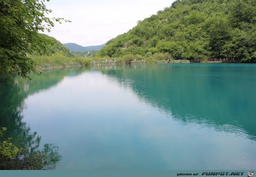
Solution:
[{"label": "calm turquoise lake water mirroring the hillside and sky", "polygon": [[37,131],[41,147],[56,145],[57,170],[255,168],[255,64],[44,72],[0,81],[0,127],[14,141]]}]

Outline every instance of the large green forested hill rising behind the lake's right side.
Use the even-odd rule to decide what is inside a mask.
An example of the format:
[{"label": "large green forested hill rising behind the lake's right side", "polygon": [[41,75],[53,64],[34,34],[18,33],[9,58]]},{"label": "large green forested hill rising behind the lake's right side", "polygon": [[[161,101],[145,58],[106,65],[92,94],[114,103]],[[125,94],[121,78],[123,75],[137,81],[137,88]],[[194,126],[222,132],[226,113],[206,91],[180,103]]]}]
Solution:
[{"label": "large green forested hill rising behind the lake's right side", "polygon": [[177,0],[109,40],[97,55],[155,53],[169,53],[173,59],[256,62],[256,1]]}]

